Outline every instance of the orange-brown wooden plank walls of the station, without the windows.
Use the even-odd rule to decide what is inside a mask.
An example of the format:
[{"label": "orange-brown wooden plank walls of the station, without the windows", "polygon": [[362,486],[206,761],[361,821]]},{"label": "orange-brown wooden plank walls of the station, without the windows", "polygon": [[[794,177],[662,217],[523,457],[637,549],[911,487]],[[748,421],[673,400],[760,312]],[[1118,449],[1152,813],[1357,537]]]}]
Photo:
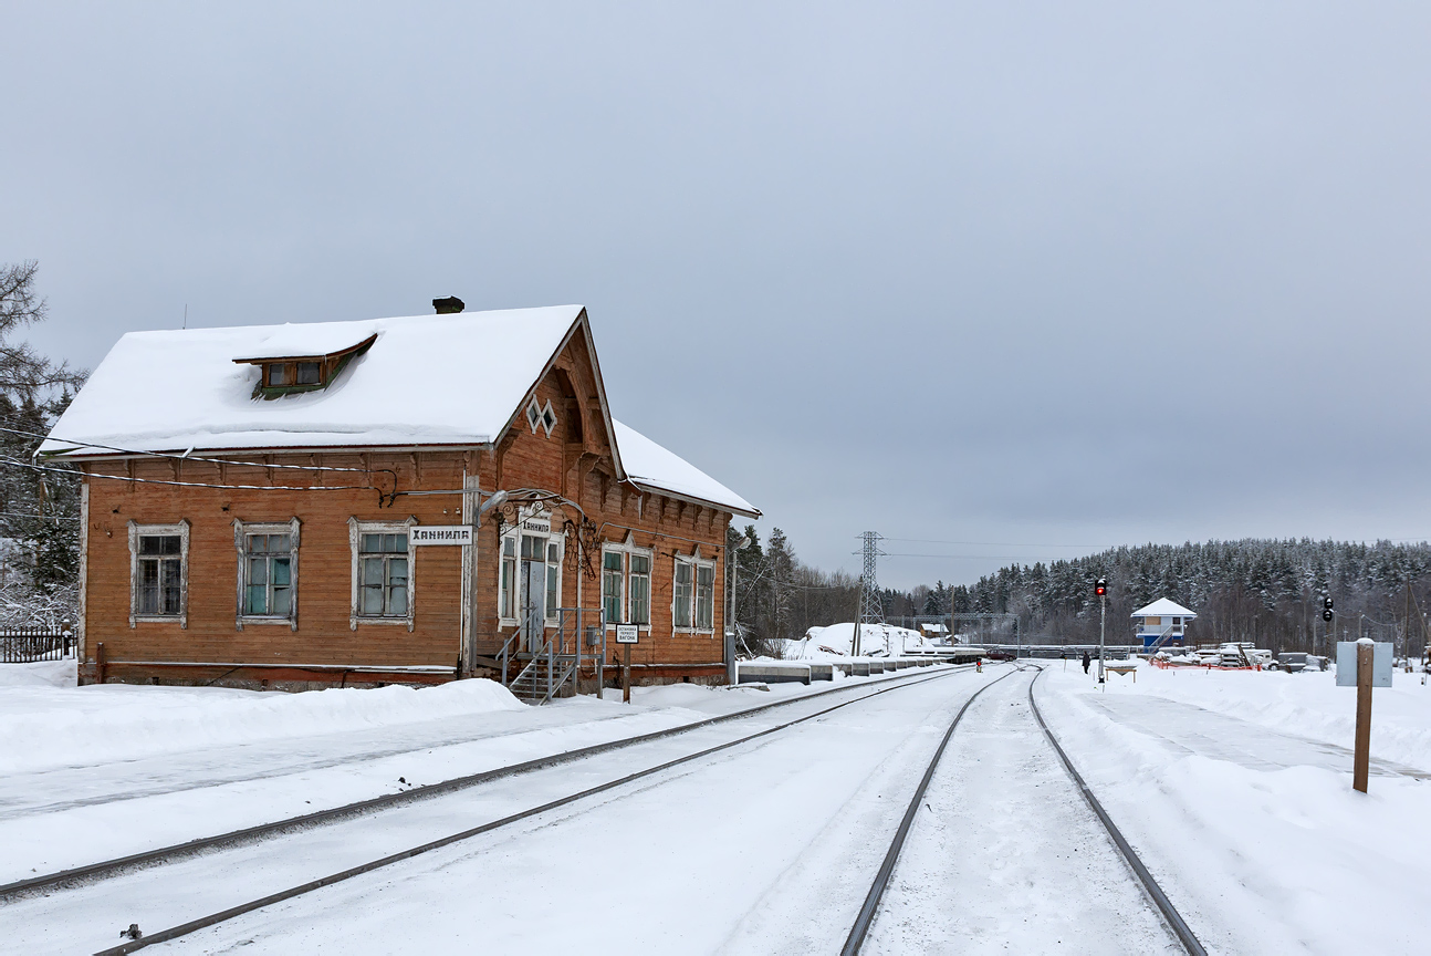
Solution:
[{"label": "orange-brown wooden plank walls of the station, without the windows", "polygon": [[[468,550],[415,548],[411,630],[392,623],[353,625],[349,521],[414,518],[419,525],[467,524],[461,489],[471,477],[478,478],[484,492],[544,489],[575,504],[544,505],[551,524],[570,531],[562,557],[562,607],[601,607],[602,542],[630,540],[650,548],[651,627],[633,648],[634,680],[724,681],[724,558],[731,512],[617,479],[597,372],[581,328],[557,355],[535,396],[542,406],[551,401],[557,412],[550,436],[544,428],[534,432],[528,426],[524,399],[521,408],[512,409],[511,424],[495,445],[312,452],[259,448],[206,455],[248,464],[175,458],[87,462],[82,681],[103,677],[312,687],[439,683],[462,674],[462,552]],[[325,471],[333,468],[359,471]],[[451,494],[411,494],[419,491]],[[499,534],[522,520],[518,497],[514,494],[514,501],[484,517],[478,532],[471,630],[482,654],[494,653],[515,630],[514,623],[498,618],[498,551]],[[296,627],[270,623],[239,627],[235,520],[278,524],[295,518],[301,527]],[[132,625],[129,522],[179,521],[187,521],[190,528],[186,623]],[[674,560],[691,555],[695,548],[701,558],[716,561],[713,627],[707,633],[678,633],[671,613]],[[614,641],[608,640],[607,654],[608,665],[615,663]],[[590,681],[594,667],[585,667],[582,680]],[[607,677],[610,683],[614,670]]]}]

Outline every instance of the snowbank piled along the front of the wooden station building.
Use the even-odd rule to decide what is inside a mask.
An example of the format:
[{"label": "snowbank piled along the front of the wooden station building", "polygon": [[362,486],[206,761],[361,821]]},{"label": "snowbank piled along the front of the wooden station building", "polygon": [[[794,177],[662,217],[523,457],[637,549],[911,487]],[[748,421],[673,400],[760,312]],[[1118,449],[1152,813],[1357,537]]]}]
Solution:
[{"label": "snowbank piled along the front of the wooden station building", "polygon": [[[64,664],[69,674],[59,667]],[[489,680],[424,690],[349,687],[286,694],[220,687],[73,687],[73,661],[0,668],[7,681],[0,684],[0,773],[527,707]],[[66,680],[70,686],[57,686]]]}]

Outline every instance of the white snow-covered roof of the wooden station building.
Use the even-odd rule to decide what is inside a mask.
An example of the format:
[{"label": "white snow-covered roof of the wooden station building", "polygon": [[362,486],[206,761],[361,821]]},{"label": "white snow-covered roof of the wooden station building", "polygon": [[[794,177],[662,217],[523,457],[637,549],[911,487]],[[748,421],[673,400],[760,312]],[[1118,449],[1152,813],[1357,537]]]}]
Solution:
[{"label": "white snow-covered roof of the wooden station building", "polygon": [[[130,332],[90,374],[40,454],[485,445],[499,436],[582,313],[580,305],[561,305]],[[235,364],[332,355],[373,335],[373,345],[319,391],[259,399],[260,366]],[[760,514],[650,438],[612,428],[617,468],[637,484]]]}]

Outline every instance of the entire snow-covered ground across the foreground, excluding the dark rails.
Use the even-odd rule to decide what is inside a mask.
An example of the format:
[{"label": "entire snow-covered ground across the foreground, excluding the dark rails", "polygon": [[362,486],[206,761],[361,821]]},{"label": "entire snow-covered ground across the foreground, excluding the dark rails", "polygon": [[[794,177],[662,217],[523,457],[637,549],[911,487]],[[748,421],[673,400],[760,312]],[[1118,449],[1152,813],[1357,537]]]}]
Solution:
[{"label": "entire snow-covered ground across the foreground, excluding the dark rails", "polygon": [[[1431,687],[1418,675],[1377,691],[1362,796],[1347,750],[1355,691],[1331,674],[1143,667],[1099,691],[1073,663],[1040,664],[1045,717],[1209,952],[1424,952],[1412,914],[1431,877]],[[953,713],[1009,670],[947,668],[169,947],[833,952]],[[1032,720],[1032,677],[1007,677],[969,708],[867,952],[1176,952]],[[637,688],[631,707],[529,708],[484,681],[290,696],[76,688],[73,663],[4,665],[0,883],[829,687],[673,686]],[[130,922],[175,925],[837,697],[13,900],[0,937],[93,952]],[[1374,917],[1344,917],[1358,910]]]}]

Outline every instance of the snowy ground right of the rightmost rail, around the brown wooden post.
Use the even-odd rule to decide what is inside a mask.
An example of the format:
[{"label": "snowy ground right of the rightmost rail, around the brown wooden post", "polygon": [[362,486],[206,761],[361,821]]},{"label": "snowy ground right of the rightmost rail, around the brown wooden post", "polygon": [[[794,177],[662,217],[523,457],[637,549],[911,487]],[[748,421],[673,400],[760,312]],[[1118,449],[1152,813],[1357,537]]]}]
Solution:
[{"label": "snowy ground right of the rightmost rail, around the brown wooden post", "polygon": [[[1329,673],[1109,674],[1046,664],[1040,707],[1209,952],[1422,953],[1431,687],[1377,690],[1368,794],[1355,690]],[[1351,914],[1365,919],[1351,919]]]}]

